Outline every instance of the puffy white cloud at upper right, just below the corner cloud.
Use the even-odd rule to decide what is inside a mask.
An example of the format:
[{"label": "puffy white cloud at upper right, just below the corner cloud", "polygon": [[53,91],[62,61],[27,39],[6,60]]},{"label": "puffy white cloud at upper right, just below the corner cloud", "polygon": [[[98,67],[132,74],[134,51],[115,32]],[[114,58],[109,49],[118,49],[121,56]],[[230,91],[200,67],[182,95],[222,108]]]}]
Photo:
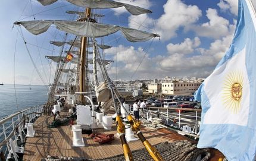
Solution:
[{"label": "puffy white cloud at upper right, just below the corner cloud", "polygon": [[212,37],[219,39],[220,37],[230,34],[230,24],[225,18],[218,15],[217,10],[208,8],[207,18],[210,20],[207,23],[203,23],[200,26],[193,26],[198,36]]}]

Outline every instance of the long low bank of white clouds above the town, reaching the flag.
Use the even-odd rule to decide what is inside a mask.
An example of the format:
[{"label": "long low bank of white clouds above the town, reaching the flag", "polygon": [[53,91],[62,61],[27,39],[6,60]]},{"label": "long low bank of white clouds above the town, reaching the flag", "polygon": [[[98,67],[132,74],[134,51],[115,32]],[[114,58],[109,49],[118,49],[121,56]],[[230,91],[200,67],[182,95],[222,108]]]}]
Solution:
[{"label": "long low bank of white clouds above the town, reaching the flag", "polygon": [[[163,75],[207,77],[229,48],[231,40],[231,35],[226,36],[211,43],[209,49],[201,49],[198,48],[200,45],[198,37],[193,40],[187,38],[182,43],[171,44],[172,48],[167,56],[150,57],[141,48],[135,49],[123,45],[107,49],[105,53],[113,55],[114,61],[118,62],[118,67],[109,69],[109,74],[113,78],[118,75],[121,79],[132,79],[142,60],[133,78],[161,78]],[[195,51],[199,54],[195,55]],[[188,53],[192,55],[187,56]]]}]

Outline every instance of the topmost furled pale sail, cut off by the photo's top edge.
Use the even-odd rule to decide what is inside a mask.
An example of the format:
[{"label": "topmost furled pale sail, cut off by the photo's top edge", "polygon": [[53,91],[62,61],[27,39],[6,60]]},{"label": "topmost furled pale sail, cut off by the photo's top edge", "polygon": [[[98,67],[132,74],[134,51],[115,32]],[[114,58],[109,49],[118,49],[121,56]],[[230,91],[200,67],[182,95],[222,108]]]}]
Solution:
[{"label": "topmost furled pale sail, cut off by the photo's top edge", "polygon": [[[42,5],[50,5],[56,2],[57,0],[38,0]],[[151,13],[151,10],[147,10],[135,5],[124,4],[121,2],[115,2],[110,0],[67,0],[71,4],[80,6],[80,7],[89,7],[93,9],[104,9],[104,8],[118,8],[125,7],[133,15],[148,14]]]}]

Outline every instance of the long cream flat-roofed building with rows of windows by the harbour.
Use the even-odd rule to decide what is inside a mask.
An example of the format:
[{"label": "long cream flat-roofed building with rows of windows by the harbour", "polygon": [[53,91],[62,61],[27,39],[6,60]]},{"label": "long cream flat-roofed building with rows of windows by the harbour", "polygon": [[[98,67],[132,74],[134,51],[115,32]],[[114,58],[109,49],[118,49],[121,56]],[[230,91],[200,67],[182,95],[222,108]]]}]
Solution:
[{"label": "long cream flat-roofed building with rows of windows by the harbour", "polygon": [[163,94],[185,94],[193,93],[198,89],[201,83],[184,82],[184,83],[162,83]]}]

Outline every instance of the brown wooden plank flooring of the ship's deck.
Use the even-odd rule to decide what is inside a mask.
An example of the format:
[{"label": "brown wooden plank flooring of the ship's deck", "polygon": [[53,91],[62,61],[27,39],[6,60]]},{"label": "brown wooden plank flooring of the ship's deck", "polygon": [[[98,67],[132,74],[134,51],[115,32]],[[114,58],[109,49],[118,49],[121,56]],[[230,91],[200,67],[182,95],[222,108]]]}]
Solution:
[{"label": "brown wooden plank flooring of the ship's deck", "polygon": [[[67,110],[61,112],[61,115],[67,115]],[[52,116],[40,116],[35,124],[35,137],[27,138],[27,143],[24,150],[23,160],[40,160],[47,155],[51,156],[73,156],[86,157],[87,159],[101,159],[104,157],[111,157],[117,154],[123,154],[120,138],[115,137],[115,140],[110,144],[98,144],[88,135],[83,135],[85,147],[71,147],[72,145],[72,131],[71,127],[61,126],[59,128],[47,128],[47,125],[52,121]],[[142,128],[142,133],[145,138],[152,145],[164,141],[174,142],[177,140],[189,140],[187,137],[177,134],[176,132],[160,129],[151,130]],[[116,134],[115,127],[111,131],[95,130],[93,132],[101,132],[104,134]],[[143,148],[140,140],[129,143],[131,150]],[[223,155],[217,150],[211,150],[213,158],[211,160],[218,160]]]}]

